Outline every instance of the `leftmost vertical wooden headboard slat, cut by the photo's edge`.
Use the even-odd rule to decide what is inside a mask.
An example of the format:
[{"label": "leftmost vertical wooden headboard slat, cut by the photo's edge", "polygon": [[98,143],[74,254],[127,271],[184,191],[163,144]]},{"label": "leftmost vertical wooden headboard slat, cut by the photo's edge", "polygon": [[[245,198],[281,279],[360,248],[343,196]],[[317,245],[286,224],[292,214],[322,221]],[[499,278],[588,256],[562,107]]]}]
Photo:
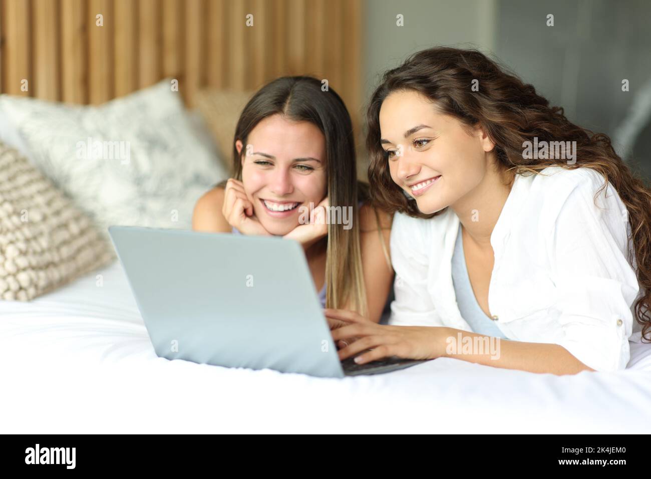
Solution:
[{"label": "leftmost vertical wooden headboard slat, cut by the photo's edge", "polygon": [[[32,42],[30,35],[30,3],[3,0],[3,89],[5,93],[30,96],[34,88],[31,76]],[[29,91],[21,91],[27,80]]]}]

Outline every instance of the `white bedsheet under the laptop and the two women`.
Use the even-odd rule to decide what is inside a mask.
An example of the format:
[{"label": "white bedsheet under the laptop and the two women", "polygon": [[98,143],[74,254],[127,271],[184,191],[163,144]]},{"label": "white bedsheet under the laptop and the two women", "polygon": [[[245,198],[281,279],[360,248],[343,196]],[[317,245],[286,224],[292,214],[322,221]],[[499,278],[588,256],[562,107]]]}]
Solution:
[{"label": "white bedsheet under the laptop and the two women", "polygon": [[118,261],[32,302],[0,301],[0,341],[0,433],[648,433],[651,424],[647,343],[630,343],[624,371],[561,377],[450,358],[345,379],[158,358]]}]

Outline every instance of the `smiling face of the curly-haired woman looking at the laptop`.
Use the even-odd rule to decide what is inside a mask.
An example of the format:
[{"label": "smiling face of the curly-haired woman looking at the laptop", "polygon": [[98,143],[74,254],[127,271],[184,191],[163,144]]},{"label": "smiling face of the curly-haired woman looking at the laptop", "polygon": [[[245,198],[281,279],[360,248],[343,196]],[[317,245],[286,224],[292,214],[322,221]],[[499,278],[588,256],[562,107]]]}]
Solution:
[{"label": "smiling face of the curly-haired woman looking at the laptop", "polygon": [[381,143],[391,179],[426,214],[454,205],[484,179],[495,146],[481,128],[469,134],[426,96],[395,91],[380,108]]}]

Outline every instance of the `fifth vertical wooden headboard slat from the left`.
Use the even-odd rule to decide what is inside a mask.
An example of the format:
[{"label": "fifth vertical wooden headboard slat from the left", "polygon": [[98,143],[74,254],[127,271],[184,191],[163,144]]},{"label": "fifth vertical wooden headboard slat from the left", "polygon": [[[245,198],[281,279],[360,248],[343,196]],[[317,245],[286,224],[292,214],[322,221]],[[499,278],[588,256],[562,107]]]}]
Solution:
[{"label": "fifth vertical wooden headboard slat from the left", "polygon": [[137,4],[133,0],[115,0],[113,5],[115,38],[115,96],[124,96],[138,88]]}]

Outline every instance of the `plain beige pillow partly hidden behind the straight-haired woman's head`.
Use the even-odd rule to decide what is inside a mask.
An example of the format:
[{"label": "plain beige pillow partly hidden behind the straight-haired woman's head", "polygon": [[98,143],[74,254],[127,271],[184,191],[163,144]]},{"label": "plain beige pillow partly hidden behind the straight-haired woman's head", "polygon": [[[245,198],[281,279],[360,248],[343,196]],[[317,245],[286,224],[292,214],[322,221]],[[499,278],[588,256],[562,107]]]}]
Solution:
[{"label": "plain beige pillow partly hidden behind the straight-haired woman's head", "polygon": [[242,110],[255,92],[202,90],[197,93],[197,108],[208,124],[217,143],[219,158],[232,173],[232,149],[235,127]]}]

